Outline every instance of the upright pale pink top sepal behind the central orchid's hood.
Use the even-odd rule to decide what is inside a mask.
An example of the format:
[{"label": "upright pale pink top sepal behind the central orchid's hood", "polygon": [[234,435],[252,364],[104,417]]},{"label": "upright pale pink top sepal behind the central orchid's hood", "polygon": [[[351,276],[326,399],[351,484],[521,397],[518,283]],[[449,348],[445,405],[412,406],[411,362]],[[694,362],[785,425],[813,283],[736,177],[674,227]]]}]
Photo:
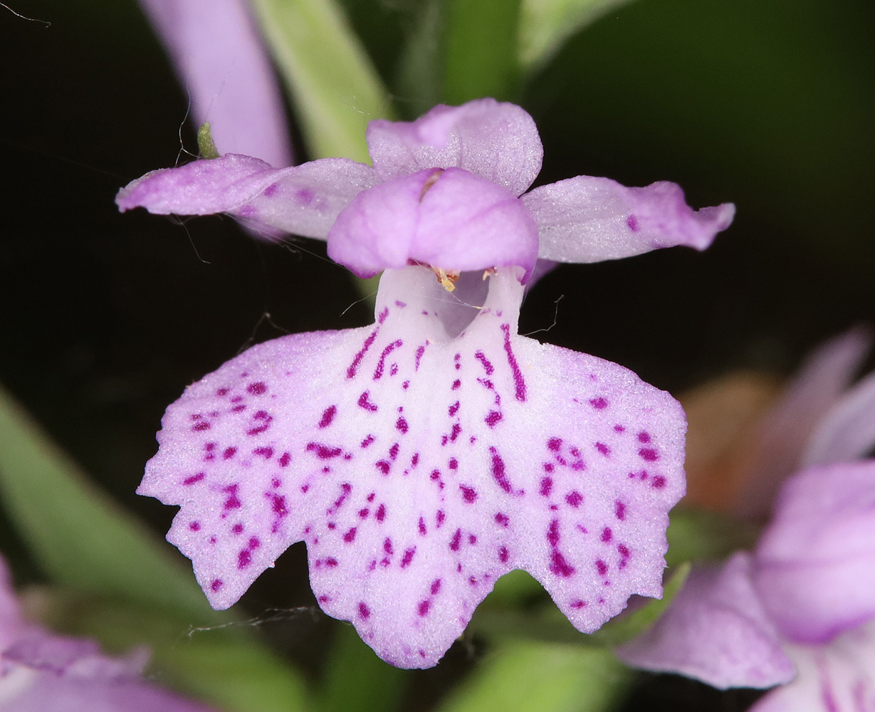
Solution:
[{"label": "upright pale pink top sepal behind the central orchid's hood", "polygon": [[541,171],[535,121],[521,107],[494,99],[437,106],[415,122],[372,121],[367,147],[382,180],[428,168],[464,168],[524,192]]}]

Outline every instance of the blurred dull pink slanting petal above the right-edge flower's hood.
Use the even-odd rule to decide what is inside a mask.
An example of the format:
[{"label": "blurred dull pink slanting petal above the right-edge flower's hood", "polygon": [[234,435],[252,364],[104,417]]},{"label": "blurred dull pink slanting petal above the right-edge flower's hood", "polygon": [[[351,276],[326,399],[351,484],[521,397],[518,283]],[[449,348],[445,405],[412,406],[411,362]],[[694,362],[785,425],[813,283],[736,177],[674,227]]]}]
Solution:
[{"label": "blurred dull pink slanting petal above the right-edge flower's hood", "polygon": [[781,399],[760,427],[759,454],[747,478],[737,510],[765,519],[775,492],[800,465],[817,423],[851,384],[872,346],[867,330],[852,329],[820,346],[802,364]]}]

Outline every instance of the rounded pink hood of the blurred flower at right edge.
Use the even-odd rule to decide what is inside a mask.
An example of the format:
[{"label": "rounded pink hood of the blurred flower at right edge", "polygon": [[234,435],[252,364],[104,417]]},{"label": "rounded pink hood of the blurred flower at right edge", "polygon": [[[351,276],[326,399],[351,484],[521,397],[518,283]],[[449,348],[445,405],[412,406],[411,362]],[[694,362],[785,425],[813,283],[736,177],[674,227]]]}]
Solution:
[{"label": "rounded pink hood of the blurred flower at right edge", "polygon": [[790,640],[825,643],[875,617],[875,460],[813,467],[788,480],[754,576]]}]

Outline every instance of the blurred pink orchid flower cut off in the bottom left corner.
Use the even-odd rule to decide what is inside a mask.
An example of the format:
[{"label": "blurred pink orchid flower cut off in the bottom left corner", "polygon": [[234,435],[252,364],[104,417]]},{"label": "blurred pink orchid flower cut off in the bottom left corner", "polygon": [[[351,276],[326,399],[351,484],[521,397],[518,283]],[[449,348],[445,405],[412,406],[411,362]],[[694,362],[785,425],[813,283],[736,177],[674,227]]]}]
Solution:
[{"label": "blurred pink orchid flower cut off in the bottom left corner", "polygon": [[4,712],[208,712],[143,681],[148,652],[109,658],[95,641],[25,621],[0,557],[0,709]]}]

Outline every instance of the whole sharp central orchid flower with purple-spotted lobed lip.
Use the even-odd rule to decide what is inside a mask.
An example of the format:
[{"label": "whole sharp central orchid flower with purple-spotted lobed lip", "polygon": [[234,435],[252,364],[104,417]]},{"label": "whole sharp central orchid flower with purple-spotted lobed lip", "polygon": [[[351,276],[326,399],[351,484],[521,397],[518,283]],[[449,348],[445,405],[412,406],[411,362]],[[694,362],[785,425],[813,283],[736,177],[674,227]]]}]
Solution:
[{"label": "whole sharp central orchid flower with purple-spotted lobed lip", "polygon": [[399,667],[436,664],[511,569],[583,632],[659,596],[683,411],[517,335],[523,285],[539,257],[705,248],[733,207],[585,176],[522,194],[535,123],[491,99],[371,122],[367,142],[373,167],[230,155],[119,192],[122,210],[230,213],[382,271],[374,325],[255,346],[168,408],[138,490],[182,507],[168,540],[215,608],[304,540],[318,604]]}]

